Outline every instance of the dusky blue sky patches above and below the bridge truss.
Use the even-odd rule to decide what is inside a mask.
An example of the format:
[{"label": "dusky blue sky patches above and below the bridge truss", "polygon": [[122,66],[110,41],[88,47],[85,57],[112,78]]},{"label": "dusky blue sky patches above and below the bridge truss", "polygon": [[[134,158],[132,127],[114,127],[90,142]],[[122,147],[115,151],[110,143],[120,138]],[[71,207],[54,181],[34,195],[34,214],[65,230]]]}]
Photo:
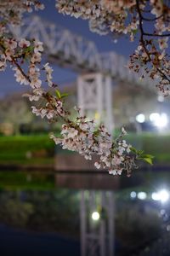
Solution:
[{"label": "dusky blue sky patches above and below the bridge truss", "polygon": [[[88,28],[88,20],[75,19],[68,15],[61,15],[54,8],[54,0],[43,0],[46,9],[37,12],[45,20],[57,23],[65,28],[69,29],[73,33],[77,33],[88,40],[92,40],[97,45],[100,52],[116,51],[120,55],[125,55],[128,57],[135,49],[136,44],[130,43],[128,39],[121,38],[118,43],[114,43],[114,38],[111,35],[100,36],[99,34],[90,32]],[[57,84],[69,84],[77,78],[77,73],[73,73],[71,70],[59,68],[53,66],[54,68],[54,82]],[[0,73],[1,79],[1,92],[0,96],[8,93],[13,93],[18,90],[26,90],[26,86],[20,85],[14,81],[13,72],[10,68],[7,71]]]}]

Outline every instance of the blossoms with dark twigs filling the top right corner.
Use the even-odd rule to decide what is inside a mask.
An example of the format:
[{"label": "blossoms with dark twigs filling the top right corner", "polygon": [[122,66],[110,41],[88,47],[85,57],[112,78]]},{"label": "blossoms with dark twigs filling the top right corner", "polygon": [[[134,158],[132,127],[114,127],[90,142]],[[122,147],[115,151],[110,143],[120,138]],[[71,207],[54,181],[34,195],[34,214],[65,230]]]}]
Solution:
[{"label": "blossoms with dark twigs filling the top right corner", "polygon": [[[139,39],[139,47],[130,56],[129,68],[141,78],[150,76],[164,96],[170,94],[170,2],[166,0],[58,0],[59,12],[89,20],[94,32]],[[147,27],[150,31],[147,32]],[[139,35],[140,33],[140,35]]]}]

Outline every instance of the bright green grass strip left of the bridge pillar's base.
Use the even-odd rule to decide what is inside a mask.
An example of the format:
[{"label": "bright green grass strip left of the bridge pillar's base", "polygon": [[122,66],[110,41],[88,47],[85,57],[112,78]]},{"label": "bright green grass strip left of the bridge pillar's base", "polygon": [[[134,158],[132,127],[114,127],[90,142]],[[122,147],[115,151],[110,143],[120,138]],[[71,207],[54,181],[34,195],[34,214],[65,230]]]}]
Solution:
[{"label": "bright green grass strip left of the bridge pillar's base", "polygon": [[0,163],[53,164],[54,142],[48,135],[0,137]]}]

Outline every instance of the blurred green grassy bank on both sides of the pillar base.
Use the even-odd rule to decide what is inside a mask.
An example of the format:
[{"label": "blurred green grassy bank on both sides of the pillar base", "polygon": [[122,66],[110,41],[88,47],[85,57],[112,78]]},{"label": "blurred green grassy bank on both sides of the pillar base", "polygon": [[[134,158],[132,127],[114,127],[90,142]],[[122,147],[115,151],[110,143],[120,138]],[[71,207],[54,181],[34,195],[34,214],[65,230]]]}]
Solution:
[{"label": "blurred green grassy bank on both sides of the pillar base", "polygon": [[[153,154],[155,163],[170,164],[170,134],[129,134],[126,139]],[[0,137],[0,164],[53,164],[54,151],[54,142],[48,135]]]}]

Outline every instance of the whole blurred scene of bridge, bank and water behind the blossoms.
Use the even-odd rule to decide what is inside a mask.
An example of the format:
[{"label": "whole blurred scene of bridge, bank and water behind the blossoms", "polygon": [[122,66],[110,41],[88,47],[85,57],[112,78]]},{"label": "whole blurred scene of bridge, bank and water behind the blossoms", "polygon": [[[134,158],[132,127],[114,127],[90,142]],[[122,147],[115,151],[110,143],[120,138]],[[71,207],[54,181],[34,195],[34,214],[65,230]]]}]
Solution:
[{"label": "whole blurred scene of bridge, bank and water behind the blossoms", "polygon": [[[54,82],[70,95],[67,108],[81,106],[83,113],[104,121],[113,137],[125,127],[127,141],[154,155],[154,165],[141,164],[132,177],[114,177],[55,147],[49,132],[59,134],[60,124],[31,113],[32,102],[22,96],[28,89],[16,84],[8,69],[0,82],[0,253],[170,255],[170,101],[148,82],[124,75],[124,60],[135,44],[90,32],[87,21],[59,15],[53,2],[48,0],[46,10],[26,26],[43,40]],[[53,54],[50,33],[44,39],[47,22],[57,24],[50,29],[60,38]],[[72,51],[81,53],[75,43],[80,41],[87,42],[82,51],[91,47],[83,63]],[[106,73],[98,67],[103,52],[117,58]]]}]

